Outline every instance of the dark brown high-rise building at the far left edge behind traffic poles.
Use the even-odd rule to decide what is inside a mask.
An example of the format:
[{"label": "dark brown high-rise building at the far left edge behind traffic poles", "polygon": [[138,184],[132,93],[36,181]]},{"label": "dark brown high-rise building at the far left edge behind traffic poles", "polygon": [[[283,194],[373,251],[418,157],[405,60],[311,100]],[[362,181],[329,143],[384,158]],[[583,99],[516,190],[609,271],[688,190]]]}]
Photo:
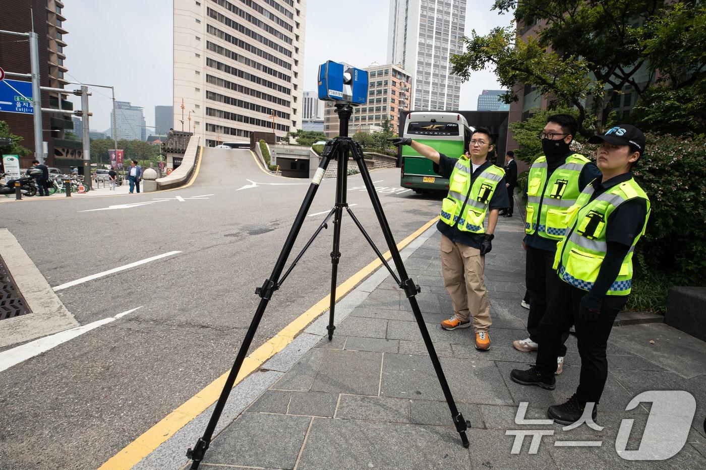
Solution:
[{"label": "dark brown high-rise building at the far left edge behind traffic poles", "polygon": [[[64,88],[68,80],[64,73],[66,54],[64,28],[66,17],[62,11],[64,3],[59,0],[2,0],[0,1],[0,18],[2,30],[15,32],[32,31],[32,13],[34,13],[34,30],[37,32],[40,59],[40,85],[51,88]],[[22,37],[0,35],[0,66],[6,72],[30,73],[30,48]],[[29,81],[28,78],[6,77],[8,80]],[[71,85],[71,91],[78,85]],[[59,96],[61,95],[61,96]],[[73,103],[66,100],[66,95],[42,91],[42,107],[73,110]],[[30,150],[28,157],[20,158],[20,167],[31,166],[35,158],[34,121],[32,114],[1,112],[0,120],[6,121],[13,134],[24,138],[21,145]],[[47,164],[50,166],[76,167],[83,156],[83,145],[76,140],[64,138],[64,131],[73,129],[71,114],[42,113],[42,141],[47,143]],[[40,155],[44,149],[39,149]]]}]

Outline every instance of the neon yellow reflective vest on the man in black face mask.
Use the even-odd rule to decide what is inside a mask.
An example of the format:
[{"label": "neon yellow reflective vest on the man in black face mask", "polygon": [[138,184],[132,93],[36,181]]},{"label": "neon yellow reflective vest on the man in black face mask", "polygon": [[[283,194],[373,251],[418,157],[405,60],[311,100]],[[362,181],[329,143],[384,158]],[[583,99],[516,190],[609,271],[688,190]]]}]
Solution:
[{"label": "neon yellow reflective vest on the man in black face mask", "polygon": [[527,218],[525,232],[545,239],[558,240],[566,235],[570,207],[580,194],[581,170],[589,160],[583,155],[572,154],[547,176],[546,157],[539,157],[527,177]]}]

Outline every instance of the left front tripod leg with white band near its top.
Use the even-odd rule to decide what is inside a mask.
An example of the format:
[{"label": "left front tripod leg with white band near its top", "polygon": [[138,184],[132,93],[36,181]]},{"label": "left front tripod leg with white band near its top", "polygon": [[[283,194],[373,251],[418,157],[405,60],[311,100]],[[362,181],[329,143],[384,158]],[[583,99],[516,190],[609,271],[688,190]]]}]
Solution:
[{"label": "left front tripod leg with white band near its top", "polygon": [[210,421],[208,421],[208,426],[206,426],[206,430],[203,433],[203,437],[199,438],[198,441],[196,441],[196,445],[193,447],[193,449],[189,449],[186,452],[186,457],[188,457],[192,461],[191,469],[198,469],[198,466],[199,464],[201,464],[206,450],[208,450],[208,446],[210,445],[211,438],[213,437],[213,433],[215,432],[215,428],[218,424],[218,420],[220,419],[220,416],[223,412],[223,408],[225,407],[225,403],[228,400],[230,391],[232,390],[238,373],[240,372],[240,368],[243,366],[245,357],[248,354],[248,349],[250,348],[250,345],[253,342],[253,338],[255,337],[258,325],[260,325],[260,320],[262,319],[263,313],[265,313],[265,308],[267,308],[268,302],[270,301],[273,292],[280,287],[278,279],[282,274],[282,270],[284,270],[285,268],[289,253],[291,253],[292,247],[294,246],[294,241],[297,240],[299,229],[301,229],[301,225],[304,224],[304,219],[306,219],[306,212],[309,212],[309,207],[311,207],[313,197],[314,195],[316,195],[318,185],[319,183],[321,183],[321,179],[323,179],[323,174],[326,170],[326,167],[328,167],[328,163],[330,162],[332,155],[335,155],[336,148],[337,143],[333,143],[332,145],[326,145],[326,148],[322,153],[323,158],[321,159],[321,164],[319,164],[318,169],[316,170],[316,175],[313,177],[311,184],[309,185],[309,191],[306,192],[304,201],[301,203],[301,207],[299,207],[297,217],[294,219],[292,229],[289,230],[289,235],[287,235],[285,246],[282,247],[282,251],[280,252],[279,258],[277,258],[277,263],[275,263],[275,267],[273,268],[272,274],[270,275],[270,279],[265,279],[263,286],[258,287],[258,289],[256,289],[256,294],[258,294],[261,298],[260,303],[258,304],[258,308],[255,312],[255,315],[253,315],[253,320],[251,321],[250,327],[248,328],[248,332],[246,333],[245,338],[243,339],[243,344],[241,344],[241,347],[238,351],[238,355],[235,358],[235,362],[233,363],[233,367],[231,368],[230,373],[228,374],[228,378],[225,381],[225,385],[223,386],[223,390],[221,391],[220,397],[218,397],[218,402],[216,402],[216,406],[213,409],[213,414],[211,415]]}]

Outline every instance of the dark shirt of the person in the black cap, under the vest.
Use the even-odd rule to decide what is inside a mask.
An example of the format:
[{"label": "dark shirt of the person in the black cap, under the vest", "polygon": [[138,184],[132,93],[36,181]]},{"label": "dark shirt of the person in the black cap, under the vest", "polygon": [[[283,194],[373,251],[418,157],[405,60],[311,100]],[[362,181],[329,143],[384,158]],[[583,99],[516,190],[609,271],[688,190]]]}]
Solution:
[{"label": "dark shirt of the person in the black cap, under the vest", "polygon": [[[624,183],[633,177],[632,172],[619,174],[601,183],[600,179],[593,182],[594,193],[590,200],[594,200],[616,184]],[[622,245],[632,246],[633,240],[642,231],[647,217],[647,201],[642,198],[626,200],[611,212],[606,224],[606,241],[614,241]]]}]

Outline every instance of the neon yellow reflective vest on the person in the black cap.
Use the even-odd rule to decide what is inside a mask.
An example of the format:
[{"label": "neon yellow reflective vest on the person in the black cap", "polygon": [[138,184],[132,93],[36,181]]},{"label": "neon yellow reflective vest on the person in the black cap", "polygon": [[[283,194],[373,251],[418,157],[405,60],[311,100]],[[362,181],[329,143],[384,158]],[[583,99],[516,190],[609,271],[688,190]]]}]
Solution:
[{"label": "neon yellow reflective vest on the person in the black cap", "polygon": [[617,184],[590,200],[593,192],[593,186],[587,186],[570,211],[573,218],[569,224],[569,234],[558,243],[554,267],[558,268],[558,276],[568,284],[586,291],[592,289],[608,249],[606,233],[611,213],[628,200],[645,199],[647,217],[642,230],[635,236],[618,277],[606,292],[614,296],[628,295],[633,282],[635,244],[645,234],[647,219],[650,217],[650,199],[634,179]]}]

